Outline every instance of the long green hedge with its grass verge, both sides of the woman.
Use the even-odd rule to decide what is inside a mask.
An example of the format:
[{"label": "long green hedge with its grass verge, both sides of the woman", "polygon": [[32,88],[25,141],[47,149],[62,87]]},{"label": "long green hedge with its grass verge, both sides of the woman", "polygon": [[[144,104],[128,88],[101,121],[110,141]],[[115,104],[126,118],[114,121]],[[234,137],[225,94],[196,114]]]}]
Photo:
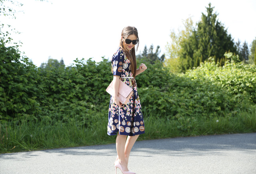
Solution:
[{"label": "long green hedge with its grass verge, both sides of the woman", "polygon": [[[159,119],[170,127],[163,138],[206,134],[200,130],[240,131],[244,125],[255,130],[250,122],[255,120],[256,68],[237,63],[239,56],[232,53],[225,56],[223,67],[209,59],[185,74],[172,74],[156,61],[136,77],[145,120]],[[36,68],[28,58],[20,57],[15,47],[4,44],[0,60],[1,151],[8,152],[14,146],[33,150],[114,140],[106,138],[104,128],[110,99],[106,87],[112,80],[110,61],[76,59],[68,67]],[[140,61],[144,60],[138,60],[138,64]],[[229,125],[227,120],[237,121],[248,112],[252,112],[252,118],[240,123],[239,129],[232,125],[220,128],[210,122],[218,117]],[[209,123],[201,124],[203,120]],[[150,129],[160,131],[159,127],[148,124],[145,136],[156,138],[156,132]]]}]

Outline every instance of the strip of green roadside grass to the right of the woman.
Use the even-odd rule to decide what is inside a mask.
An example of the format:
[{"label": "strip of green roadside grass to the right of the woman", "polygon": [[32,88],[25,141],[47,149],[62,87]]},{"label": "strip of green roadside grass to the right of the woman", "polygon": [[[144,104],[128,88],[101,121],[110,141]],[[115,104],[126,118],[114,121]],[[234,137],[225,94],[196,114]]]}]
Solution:
[{"label": "strip of green roadside grass to the right of the woman", "polygon": [[200,136],[213,134],[234,134],[256,132],[256,111],[243,112],[236,116],[206,118],[154,118],[145,119],[146,134],[139,140]]}]

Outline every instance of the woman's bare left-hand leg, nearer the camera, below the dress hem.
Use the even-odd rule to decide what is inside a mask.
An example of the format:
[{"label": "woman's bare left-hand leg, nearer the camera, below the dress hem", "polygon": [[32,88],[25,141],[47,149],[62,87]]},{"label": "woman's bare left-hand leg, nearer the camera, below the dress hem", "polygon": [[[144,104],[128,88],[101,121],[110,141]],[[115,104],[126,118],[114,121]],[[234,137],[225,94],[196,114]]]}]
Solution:
[{"label": "woman's bare left-hand leg, nearer the camera, below the dress hem", "polygon": [[117,151],[117,155],[118,155],[118,160],[122,166],[122,170],[129,171],[128,167],[127,167],[125,155],[124,155],[125,142],[126,142],[126,135],[118,134],[116,137],[116,151]]}]

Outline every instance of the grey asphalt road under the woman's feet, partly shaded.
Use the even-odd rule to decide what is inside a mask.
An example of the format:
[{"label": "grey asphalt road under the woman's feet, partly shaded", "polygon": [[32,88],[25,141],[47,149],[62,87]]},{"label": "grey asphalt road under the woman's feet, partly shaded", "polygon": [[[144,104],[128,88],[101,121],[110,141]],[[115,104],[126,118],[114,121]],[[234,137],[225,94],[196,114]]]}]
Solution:
[{"label": "grey asphalt road under the woman's feet, partly shaded", "polygon": [[[0,174],[114,174],[115,159],[115,144],[0,154]],[[256,133],[137,141],[128,168],[137,174],[256,174]]]}]

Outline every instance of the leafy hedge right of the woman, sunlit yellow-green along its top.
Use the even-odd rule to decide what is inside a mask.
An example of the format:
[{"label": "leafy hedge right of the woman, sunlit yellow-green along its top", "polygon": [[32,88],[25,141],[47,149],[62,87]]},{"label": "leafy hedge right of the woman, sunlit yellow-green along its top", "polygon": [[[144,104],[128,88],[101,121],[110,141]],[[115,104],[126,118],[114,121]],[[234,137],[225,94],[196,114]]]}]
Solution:
[{"label": "leafy hedge right of the woman, sunlit yellow-green along its top", "polygon": [[210,58],[186,74],[168,74],[167,69],[151,65],[152,74],[148,71],[137,78],[143,108],[165,117],[200,114],[211,118],[233,116],[256,103],[255,67],[238,63],[239,56],[232,53],[225,56],[223,68]]}]

